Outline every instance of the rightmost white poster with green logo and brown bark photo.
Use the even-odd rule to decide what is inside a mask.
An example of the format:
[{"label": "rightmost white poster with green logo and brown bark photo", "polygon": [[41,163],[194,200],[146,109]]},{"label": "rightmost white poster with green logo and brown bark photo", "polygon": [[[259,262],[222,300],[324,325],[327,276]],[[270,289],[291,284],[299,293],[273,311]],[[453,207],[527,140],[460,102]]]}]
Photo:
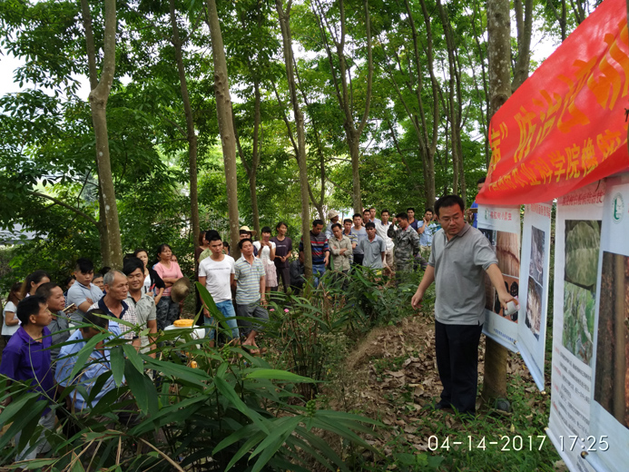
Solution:
[{"label": "rightmost white poster with green logo and brown bark photo", "polygon": [[[598,261],[588,459],[629,468],[629,176],[607,180]],[[620,468],[619,465],[623,465]]]}]

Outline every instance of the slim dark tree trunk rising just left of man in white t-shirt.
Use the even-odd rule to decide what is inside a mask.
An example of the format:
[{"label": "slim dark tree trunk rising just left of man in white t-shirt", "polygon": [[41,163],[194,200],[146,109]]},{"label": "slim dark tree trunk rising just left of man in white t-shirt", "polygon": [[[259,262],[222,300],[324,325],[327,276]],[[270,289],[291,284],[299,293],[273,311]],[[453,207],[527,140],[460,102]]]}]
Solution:
[{"label": "slim dark tree trunk rising just left of man in white t-shirt", "polygon": [[197,190],[197,135],[194,133],[194,117],[188,93],[188,81],[186,80],[186,70],[183,65],[182,40],[179,37],[179,26],[177,26],[177,16],[175,14],[174,0],[170,0],[171,25],[172,25],[172,45],[177,61],[177,71],[179,72],[179,83],[182,87],[183,113],[186,117],[186,138],[188,140],[188,162],[190,171],[190,212],[192,222],[192,241],[196,245],[197,238],[201,232],[199,222],[199,192]]}]

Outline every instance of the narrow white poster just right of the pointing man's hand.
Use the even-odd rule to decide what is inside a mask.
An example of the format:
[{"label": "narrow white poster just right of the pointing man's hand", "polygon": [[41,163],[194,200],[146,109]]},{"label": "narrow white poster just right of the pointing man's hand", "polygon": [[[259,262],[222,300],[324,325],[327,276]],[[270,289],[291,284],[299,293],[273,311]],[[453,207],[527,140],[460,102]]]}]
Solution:
[{"label": "narrow white poster just right of the pointing man's hand", "polygon": [[553,205],[525,205],[520,266],[517,346],[537,388],[544,390],[544,359]]}]

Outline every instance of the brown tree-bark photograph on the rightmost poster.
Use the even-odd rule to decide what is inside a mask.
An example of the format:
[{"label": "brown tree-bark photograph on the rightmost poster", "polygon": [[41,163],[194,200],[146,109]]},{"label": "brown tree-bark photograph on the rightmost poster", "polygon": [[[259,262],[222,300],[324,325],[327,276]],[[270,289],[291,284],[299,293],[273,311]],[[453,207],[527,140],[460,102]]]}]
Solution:
[{"label": "brown tree-bark photograph on the rightmost poster", "polygon": [[595,401],[629,428],[629,257],[604,251],[601,293]]}]

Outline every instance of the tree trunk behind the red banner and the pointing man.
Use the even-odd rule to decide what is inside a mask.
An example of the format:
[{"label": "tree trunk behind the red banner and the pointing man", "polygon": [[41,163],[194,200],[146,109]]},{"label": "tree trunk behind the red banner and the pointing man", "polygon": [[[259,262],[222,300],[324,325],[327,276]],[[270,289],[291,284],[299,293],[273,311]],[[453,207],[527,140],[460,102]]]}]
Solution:
[{"label": "tree trunk behind the red banner and the pointing man", "polygon": [[[508,0],[487,0],[487,56],[489,59],[489,93],[491,114],[511,95],[509,58],[511,33]],[[485,381],[483,400],[487,403],[506,398],[506,348],[486,338]]]}]

